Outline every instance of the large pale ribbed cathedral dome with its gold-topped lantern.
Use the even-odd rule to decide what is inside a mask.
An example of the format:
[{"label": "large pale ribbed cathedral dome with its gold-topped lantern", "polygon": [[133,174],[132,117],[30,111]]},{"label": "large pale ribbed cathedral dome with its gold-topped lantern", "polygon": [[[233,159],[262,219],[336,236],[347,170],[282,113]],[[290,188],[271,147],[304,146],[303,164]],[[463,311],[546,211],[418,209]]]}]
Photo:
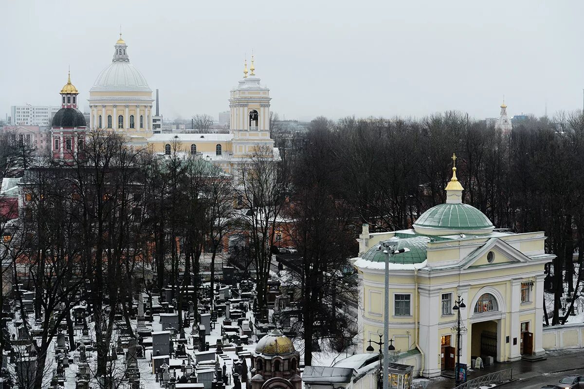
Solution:
[{"label": "large pale ribbed cathedral dome with its gold-topped lantern", "polygon": [[100,72],[89,92],[152,92],[144,76],[130,64],[121,34],[114,47],[112,63]]}]

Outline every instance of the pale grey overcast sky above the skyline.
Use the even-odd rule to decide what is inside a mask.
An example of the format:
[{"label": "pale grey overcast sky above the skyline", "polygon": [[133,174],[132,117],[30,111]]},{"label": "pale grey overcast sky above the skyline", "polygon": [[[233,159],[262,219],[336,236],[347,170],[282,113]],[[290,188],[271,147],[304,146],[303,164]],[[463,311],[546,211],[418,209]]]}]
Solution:
[{"label": "pale grey overcast sky above the skyline", "polygon": [[286,119],[582,108],[582,1],[2,1],[0,114],[88,90],[121,24],[165,117],[228,109],[253,49]]}]

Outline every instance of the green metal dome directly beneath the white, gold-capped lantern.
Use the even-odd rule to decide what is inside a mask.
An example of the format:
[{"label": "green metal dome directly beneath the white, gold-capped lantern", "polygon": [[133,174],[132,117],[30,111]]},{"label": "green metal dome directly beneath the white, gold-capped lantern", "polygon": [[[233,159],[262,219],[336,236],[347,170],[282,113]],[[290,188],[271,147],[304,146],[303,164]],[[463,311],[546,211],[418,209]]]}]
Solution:
[{"label": "green metal dome directly beneath the white, gold-capped lantern", "polygon": [[480,230],[493,228],[484,213],[468,204],[439,204],[424,212],[413,224],[415,227]]}]

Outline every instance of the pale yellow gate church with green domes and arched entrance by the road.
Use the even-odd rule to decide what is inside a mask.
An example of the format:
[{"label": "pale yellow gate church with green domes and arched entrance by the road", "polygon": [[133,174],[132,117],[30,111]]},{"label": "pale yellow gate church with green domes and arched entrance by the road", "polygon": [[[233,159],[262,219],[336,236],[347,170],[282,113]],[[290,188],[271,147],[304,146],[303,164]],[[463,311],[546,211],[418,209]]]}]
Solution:
[{"label": "pale yellow gate church with green domes and arched entrance by the road", "polygon": [[[456,156],[453,156],[456,160]],[[423,213],[409,230],[359,235],[359,328],[363,352],[383,334],[384,320],[402,362],[416,364],[425,377],[453,370],[460,296],[460,363],[481,357],[484,364],[540,355],[544,265],[543,232],[497,230],[478,209],[464,204],[463,186],[453,176],[447,199]],[[390,256],[390,314],[384,318],[387,242]],[[409,356],[409,360],[405,359]]]}]

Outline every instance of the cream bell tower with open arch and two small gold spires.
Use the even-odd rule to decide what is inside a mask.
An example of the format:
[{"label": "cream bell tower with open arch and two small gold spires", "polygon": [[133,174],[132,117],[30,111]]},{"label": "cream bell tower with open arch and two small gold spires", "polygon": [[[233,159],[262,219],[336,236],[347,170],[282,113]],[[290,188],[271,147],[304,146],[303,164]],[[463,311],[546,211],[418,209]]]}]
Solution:
[{"label": "cream bell tower with open arch and two small gold spires", "polygon": [[270,89],[262,86],[260,78],[255,74],[252,55],[249,71],[246,60],[244,77],[231,90],[229,99],[234,158],[245,158],[258,146],[273,149],[274,141],[270,138],[270,100]]}]

